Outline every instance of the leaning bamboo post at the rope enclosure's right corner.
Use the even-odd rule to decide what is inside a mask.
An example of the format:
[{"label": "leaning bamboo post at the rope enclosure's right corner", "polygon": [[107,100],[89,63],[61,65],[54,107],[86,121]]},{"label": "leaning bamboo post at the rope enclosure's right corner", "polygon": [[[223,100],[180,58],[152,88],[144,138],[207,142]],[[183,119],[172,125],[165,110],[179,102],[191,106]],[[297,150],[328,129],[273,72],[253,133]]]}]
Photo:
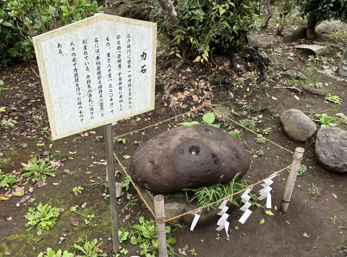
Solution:
[{"label": "leaning bamboo post at the rope enclosure's right corner", "polygon": [[301,161],[298,161],[298,160],[300,160],[302,158],[304,151],[305,151],[305,149],[302,147],[296,147],[295,148],[295,153],[293,156],[293,160],[291,162],[291,163],[295,163],[295,164],[290,166],[290,171],[289,171],[289,175],[288,175],[288,179],[287,179],[287,185],[286,185],[285,193],[283,194],[283,198],[282,198],[282,202],[281,202],[280,212],[287,213],[287,211],[288,211],[291,193],[293,192],[297,172],[299,170],[299,166],[301,163]]}]

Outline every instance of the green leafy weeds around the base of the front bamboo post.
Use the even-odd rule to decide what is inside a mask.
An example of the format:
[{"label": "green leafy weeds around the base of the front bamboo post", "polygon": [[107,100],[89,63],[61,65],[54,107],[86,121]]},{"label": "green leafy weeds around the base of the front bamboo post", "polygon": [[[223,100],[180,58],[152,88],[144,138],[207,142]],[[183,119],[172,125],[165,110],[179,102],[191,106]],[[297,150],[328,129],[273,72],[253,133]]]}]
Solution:
[{"label": "green leafy weeds around the base of the front bamboo post", "polygon": [[[140,245],[140,255],[146,257],[155,257],[158,253],[158,240],[157,240],[157,227],[154,220],[145,220],[144,217],[139,218],[139,223],[133,225],[130,238],[130,243],[133,245]],[[171,228],[165,227],[166,233],[170,233]],[[176,243],[176,240],[172,237],[167,237],[167,247],[169,256],[173,255],[172,245]],[[150,246],[153,246],[154,250],[149,251]]]}]

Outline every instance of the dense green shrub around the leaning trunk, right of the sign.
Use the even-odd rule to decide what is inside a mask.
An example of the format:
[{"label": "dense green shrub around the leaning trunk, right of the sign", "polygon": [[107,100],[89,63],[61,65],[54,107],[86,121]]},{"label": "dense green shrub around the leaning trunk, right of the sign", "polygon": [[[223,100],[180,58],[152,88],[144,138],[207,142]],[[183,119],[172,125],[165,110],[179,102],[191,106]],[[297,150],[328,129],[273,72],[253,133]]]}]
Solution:
[{"label": "dense green shrub around the leaning trunk, right of the sign", "polygon": [[169,38],[170,54],[179,52],[182,41],[196,53],[195,62],[207,61],[210,52],[230,54],[244,43],[246,34],[257,26],[254,11],[258,4],[257,0],[178,0],[175,10],[181,29],[173,33],[155,5],[158,30]]}]

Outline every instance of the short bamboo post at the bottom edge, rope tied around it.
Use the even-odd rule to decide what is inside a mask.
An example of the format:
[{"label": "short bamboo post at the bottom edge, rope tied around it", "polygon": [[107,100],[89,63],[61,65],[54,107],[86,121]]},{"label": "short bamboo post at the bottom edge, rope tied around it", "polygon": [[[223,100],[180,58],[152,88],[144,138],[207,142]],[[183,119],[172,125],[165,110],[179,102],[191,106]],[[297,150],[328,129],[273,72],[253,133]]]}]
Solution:
[{"label": "short bamboo post at the bottom edge, rope tied around it", "polygon": [[[154,196],[154,209],[158,219],[165,219],[164,208],[164,196],[157,194]],[[168,257],[168,249],[166,246],[166,231],[165,222],[159,222],[157,220],[157,236],[158,236],[158,248],[159,257]]]}]

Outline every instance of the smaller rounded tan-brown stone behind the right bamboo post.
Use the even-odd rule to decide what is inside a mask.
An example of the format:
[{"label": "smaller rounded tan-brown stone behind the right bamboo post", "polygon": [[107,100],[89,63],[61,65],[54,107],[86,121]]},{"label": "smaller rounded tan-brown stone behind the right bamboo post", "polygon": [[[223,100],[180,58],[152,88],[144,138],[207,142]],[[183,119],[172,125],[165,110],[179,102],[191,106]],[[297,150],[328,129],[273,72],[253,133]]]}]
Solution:
[{"label": "smaller rounded tan-brown stone behind the right bamboo post", "polygon": [[282,113],[280,122],[285,134],[297,142],[307,141],[317,130],[314,122],[296,109],[289,109]]}]

